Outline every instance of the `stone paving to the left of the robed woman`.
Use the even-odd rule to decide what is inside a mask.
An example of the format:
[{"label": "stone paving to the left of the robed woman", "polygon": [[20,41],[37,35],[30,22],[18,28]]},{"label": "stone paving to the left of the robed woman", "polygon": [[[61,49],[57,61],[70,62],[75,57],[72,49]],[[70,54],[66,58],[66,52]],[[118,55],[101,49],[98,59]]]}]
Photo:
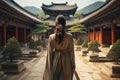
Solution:
[{"label": "stone paving to the left of the robed woman", "polygon": [[26,70],[20,74],[8,75],[8,80],[42,80],[46,51],[42,51],[40,54],[31,61],[25,61]]}]

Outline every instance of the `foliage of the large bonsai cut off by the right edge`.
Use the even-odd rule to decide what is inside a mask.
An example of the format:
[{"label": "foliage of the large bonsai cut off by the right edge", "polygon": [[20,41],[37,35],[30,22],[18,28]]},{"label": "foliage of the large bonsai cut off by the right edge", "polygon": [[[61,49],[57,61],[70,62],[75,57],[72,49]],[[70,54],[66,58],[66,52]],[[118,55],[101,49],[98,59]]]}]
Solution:
[{"label": "foliage of the large bonsai cut off by the right edge", "polygon": [[118,39],[109,50],[107,57],[114,58],[118,64],[118,59],[120,59],[120,39]]}]

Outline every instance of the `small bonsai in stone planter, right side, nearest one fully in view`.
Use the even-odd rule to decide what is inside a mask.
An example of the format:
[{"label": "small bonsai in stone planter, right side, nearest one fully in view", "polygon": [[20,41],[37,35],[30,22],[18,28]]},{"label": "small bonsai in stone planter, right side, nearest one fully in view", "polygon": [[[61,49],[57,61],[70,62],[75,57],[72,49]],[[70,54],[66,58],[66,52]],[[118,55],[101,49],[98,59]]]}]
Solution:
[{"label": "small bonsai in stone planter, right side, nearest one fully in view", "polygon": [[100,45],[96,40],[90,42],[88,45],[88,51],[92,51],[92,54],[90,55],[90,61],[98,60],[98,53],[101,51],[98,48],[99,46]]}]

